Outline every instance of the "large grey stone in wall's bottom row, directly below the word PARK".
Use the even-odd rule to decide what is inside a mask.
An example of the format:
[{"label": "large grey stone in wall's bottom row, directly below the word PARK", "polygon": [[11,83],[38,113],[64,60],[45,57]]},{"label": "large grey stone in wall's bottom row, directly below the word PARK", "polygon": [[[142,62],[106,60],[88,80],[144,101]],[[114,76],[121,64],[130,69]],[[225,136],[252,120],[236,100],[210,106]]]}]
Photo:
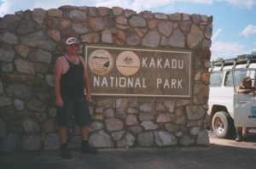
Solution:
[{"label": "large grey stone in wall's bottom row, directly below the word PARK", "polygon": [[154,132],[154,142],[160,147],[178,143],[175,135],[165,131]]}]

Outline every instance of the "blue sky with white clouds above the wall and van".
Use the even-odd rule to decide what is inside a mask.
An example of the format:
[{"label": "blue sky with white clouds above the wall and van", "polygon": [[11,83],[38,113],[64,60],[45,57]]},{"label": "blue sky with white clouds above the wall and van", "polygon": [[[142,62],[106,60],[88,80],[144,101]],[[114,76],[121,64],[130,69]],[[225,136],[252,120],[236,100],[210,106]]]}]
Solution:
[{"label": "blue sky with white clouds above the wall and van", "polygon": [[256,0],[0,0],[0,17],[33,8],[63,5],[121,7],[157,13],[213,16],[212,58],[230,59],[256,52]]}]

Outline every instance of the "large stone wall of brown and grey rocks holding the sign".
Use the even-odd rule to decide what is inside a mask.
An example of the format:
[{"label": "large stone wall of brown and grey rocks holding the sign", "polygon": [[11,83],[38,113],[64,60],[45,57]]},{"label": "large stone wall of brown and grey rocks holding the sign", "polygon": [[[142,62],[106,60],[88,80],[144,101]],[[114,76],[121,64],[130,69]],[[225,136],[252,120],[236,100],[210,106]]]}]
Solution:
[{"label": "large stone wall of brown and grey rocks holding the sign", "polygon": [[[193,54],[191,99],[94,97],[91,145],[209,144],[205,116],[212,16],[63,6],[19,11],[0,19],[1,150],[59,148],[54,63],[70,36],[86,44],[189,49]],[[73,124],[69,131],[69,146],[79,148],[79,127]]]}]

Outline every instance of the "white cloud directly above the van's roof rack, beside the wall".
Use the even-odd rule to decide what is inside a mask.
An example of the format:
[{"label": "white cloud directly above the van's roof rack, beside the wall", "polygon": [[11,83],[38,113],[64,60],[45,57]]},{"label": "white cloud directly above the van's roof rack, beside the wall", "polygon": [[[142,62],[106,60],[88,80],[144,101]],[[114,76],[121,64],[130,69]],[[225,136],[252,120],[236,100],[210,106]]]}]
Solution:
[{"label": "white cloud directly above the van's roof rack, beside the wall", "polygon": [[212,47],[212,59],[217,58],[236,58],[239,54],[251,54],[247,48],[239,42],[213,42]]}]

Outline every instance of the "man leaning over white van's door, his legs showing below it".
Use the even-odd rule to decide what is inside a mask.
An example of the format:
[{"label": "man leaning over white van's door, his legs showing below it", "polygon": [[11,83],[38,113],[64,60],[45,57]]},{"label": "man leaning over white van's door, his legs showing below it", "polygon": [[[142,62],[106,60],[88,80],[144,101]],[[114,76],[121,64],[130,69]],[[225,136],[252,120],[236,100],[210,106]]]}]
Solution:
[{"label": "man leaning over white van's door, his legs showing below it", "polygon": [[[253,79],[249,76],[245,76],[241,80],[241,85],[236,87],[237,93],[253,93],[256,91],[256,87],[252,87]],[[236,127],[236,142],[241,142],[247,138],[248,128],[247,127]]]}]

